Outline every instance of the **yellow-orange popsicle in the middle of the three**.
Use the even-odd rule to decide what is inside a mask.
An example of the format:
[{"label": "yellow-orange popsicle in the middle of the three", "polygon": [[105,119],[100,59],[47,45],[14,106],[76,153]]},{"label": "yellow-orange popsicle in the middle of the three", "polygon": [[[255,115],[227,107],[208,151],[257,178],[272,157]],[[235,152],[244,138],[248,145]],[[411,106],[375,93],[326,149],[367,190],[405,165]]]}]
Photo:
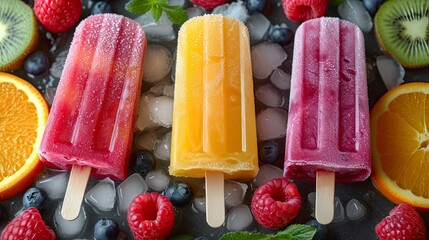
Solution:
[{"label": "yellow-orange popsicle in the middle of the three", "polygon": [[[176,64],[169,170],[174,176],[206,177],[206,205],[219,203],[209,202],[210,194],[218,194],[219,212],[223,178],[249,179],[258,172],[246,26],[221,15],[188,20],[179,31]],[[219,192],[208,190],[208,174],[219,177]]]}]

